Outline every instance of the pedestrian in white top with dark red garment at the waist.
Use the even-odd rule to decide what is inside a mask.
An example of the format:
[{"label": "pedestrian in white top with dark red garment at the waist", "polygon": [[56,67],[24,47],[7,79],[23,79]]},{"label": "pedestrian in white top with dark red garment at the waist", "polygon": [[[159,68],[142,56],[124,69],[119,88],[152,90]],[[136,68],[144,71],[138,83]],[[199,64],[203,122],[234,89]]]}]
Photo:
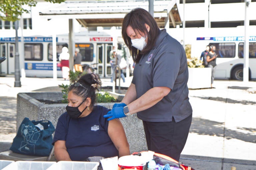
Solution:
[{"label": "pedestrian in white top with dark red garment at the waist", "polygon": [[64,80],[69,79],[69,53],[67,47],[62,47],[62,52],[60,53],[60,65],[61,65],[61,71],[62,71],[62,77]]}]

